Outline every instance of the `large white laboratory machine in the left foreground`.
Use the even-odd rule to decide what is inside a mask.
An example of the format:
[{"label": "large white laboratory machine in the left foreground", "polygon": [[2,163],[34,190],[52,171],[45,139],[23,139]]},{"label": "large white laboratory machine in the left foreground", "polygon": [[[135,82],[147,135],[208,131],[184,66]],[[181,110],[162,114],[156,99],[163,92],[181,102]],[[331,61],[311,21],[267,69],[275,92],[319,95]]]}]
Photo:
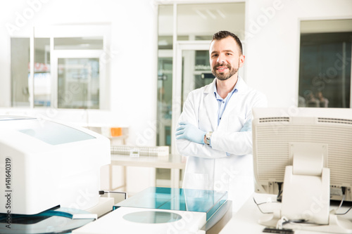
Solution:
[{"label": "large white laboratory machine in the left foreground", "polygon": [[0,116],[0,129],[0,213],[12,219],[5,224],[15,224],[13,215],[99,202],[100,169],[111,162],[108,138],[34,117]]}]

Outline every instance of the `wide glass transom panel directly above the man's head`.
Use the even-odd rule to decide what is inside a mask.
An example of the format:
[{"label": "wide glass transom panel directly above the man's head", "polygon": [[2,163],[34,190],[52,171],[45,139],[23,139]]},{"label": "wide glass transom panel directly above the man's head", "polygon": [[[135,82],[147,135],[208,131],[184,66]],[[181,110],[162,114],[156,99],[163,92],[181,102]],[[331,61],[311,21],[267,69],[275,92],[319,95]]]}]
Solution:
[{"label": "wide glass transom panel directly above the man's head", "polygon": [[244,39],[244,3],[177,6],[178,40],[208,40],[224,29]]}]

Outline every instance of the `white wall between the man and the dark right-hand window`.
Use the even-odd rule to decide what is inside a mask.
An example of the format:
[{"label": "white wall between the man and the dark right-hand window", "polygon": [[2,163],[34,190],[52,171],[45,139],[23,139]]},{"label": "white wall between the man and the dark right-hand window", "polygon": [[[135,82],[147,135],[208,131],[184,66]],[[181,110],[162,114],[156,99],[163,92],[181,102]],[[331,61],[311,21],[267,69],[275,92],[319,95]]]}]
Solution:
[{"label": "white wall between the man and the dark right-hand window", "polygon": [[300,20],[340,18],[352,18],[352,1],[246,1],[246,81],[269,106],[297,105]]}]

